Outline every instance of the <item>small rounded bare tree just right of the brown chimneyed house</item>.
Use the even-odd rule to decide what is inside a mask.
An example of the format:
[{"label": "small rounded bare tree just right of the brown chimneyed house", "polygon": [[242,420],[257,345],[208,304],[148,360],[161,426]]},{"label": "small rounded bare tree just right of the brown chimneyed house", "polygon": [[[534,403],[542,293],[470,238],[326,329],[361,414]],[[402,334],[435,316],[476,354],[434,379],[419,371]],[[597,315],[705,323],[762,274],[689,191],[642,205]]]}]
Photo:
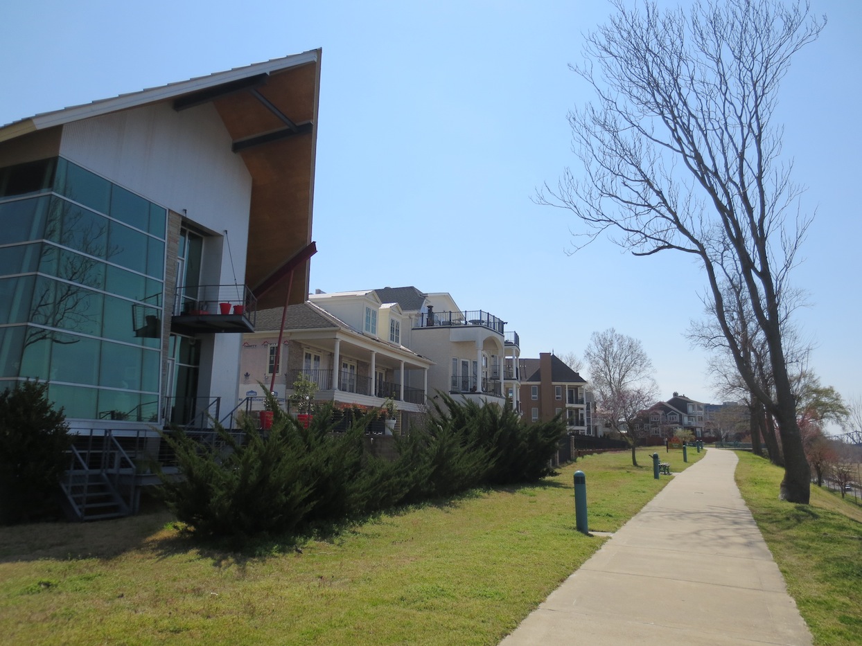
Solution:
[{"label": "small rounded bare tree just right of the brown chimneyed house", "polygon": [[592,333],[584,359],[590,366],[597,415],[628,439],[636,467],[635,447],[644,432],[640,413],[652,406],[657,396],[653,362],[638,339],[616,332],[613,327]]}]

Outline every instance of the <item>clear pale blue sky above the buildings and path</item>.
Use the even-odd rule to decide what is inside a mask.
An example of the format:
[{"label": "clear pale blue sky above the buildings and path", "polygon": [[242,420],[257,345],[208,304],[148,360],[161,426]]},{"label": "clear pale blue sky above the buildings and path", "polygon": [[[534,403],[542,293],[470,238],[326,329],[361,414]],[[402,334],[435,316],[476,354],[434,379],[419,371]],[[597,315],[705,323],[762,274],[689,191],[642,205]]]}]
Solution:
[{"label": "clear pale blue sky above the buildings and path", "polygon": [[[797,286],[812,368],[862,394],[857,187],[862,3],[829,22],[781,94],[784,152],[817,209]],[[582,355],[614,326],[640,339],[662,399],[715,401],[684,331],[703,275],[678,255],[574,256],[565,213],[530,200],[576,160],[565,115],[590,99],[569,63],[609,3],[0,3],[0,123],[322,47],[310,288],[447,291],[519,332],[522,356]]]}]

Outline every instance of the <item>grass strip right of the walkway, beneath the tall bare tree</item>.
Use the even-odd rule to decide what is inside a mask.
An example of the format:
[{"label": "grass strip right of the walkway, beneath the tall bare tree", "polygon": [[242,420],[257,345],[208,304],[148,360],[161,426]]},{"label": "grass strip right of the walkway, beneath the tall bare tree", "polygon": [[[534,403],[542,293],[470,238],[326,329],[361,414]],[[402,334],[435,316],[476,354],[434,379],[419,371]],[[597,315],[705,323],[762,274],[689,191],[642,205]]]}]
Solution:
[{"label": "grass strip right of the walkway, beneath the tall bare tree", "polygon": [[862,643],[862,506],[811,485],[809,505],[778,500],[784,475],[740,452],[736,482],[816,644]]}]

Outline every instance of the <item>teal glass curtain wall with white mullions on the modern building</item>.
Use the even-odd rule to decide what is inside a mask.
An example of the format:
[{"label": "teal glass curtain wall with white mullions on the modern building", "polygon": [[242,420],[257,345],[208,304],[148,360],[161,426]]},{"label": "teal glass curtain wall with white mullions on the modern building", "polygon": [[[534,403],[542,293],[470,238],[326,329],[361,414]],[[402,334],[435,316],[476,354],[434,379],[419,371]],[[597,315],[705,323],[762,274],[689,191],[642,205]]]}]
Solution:
[{"label": "teal glass curtain wall with white mullions on the modern building", "polygon": [[0,387],[157,421],[165,208],[64,158],[0,169]]}]

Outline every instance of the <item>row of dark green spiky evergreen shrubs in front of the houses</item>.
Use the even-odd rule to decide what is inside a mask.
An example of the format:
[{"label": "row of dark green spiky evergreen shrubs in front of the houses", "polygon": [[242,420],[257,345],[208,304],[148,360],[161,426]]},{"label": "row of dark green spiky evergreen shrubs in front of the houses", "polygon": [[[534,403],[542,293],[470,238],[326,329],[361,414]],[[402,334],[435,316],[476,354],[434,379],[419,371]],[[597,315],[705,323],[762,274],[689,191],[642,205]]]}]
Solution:
[{"label": "row of dark green spiky evergreen shrubs in front of the houses", "polygon": [[526,425],[510,406],[482,407],[447,394],[440,400],[422,431],[396,438],[394,461],[363,448],[376,411],[335,432],[331,406],[306,428],[271,401],[275,416],[266,432],[247,420],[240,434],[217,428],[221,441],[209,447],[182,430],[166,432],[182,478],[162,475],[160,495],[195,535],[241,545],[553,473],[549,460],[565,434],[559,416]]}]

